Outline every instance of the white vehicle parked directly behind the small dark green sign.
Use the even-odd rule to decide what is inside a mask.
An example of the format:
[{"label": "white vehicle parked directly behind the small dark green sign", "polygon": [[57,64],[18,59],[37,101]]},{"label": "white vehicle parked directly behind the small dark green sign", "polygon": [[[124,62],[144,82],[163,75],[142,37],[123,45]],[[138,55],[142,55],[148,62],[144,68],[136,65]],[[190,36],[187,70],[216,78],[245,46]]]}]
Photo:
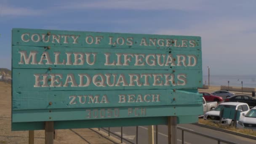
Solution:
[{"label": "white vehicle parked directly behind the small dark green sign", "polygon": [[[245,117],[245,114],[249,111],[248,104],[241,103],[241,102],[224,102],[219,104],[213,111],[206,112],[205,115],[203,116],[203,119],[210,120],[214,123],[219,123],[220,122],[219,113],[222,108],[231,108],[231,109],[239,110],[240,111],[239,120]],[[225,119],[225,118],[221,119],[221,125],[230,125],[231,123],[232,123],[231,119]]]}]

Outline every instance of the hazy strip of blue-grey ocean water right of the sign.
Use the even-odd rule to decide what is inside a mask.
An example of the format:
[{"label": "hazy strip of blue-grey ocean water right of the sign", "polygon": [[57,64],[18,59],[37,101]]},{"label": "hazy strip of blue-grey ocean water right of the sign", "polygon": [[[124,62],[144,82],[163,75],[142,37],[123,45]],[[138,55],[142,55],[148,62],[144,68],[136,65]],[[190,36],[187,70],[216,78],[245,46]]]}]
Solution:
[{"label": "hazy strip of blue-grey ocean water right of the sign", "polygon": [[[208,75],[203,76],[203,84],[208,85]],[[228,85],[242,87],[256,88],[256,75],[210,75],[210,85]]]}]

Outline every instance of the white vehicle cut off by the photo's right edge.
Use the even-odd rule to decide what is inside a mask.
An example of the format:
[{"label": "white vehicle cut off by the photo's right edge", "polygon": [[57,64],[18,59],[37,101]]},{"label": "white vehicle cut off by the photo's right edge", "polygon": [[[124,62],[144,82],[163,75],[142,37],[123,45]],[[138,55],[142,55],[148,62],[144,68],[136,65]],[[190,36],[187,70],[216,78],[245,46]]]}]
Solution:
[{"label": "white vehicle cut off by the photo's right edge", "polygon": [[256,131],[256,107],[253,107],[243,119],[240,119],[237,128],[250,128]]}]

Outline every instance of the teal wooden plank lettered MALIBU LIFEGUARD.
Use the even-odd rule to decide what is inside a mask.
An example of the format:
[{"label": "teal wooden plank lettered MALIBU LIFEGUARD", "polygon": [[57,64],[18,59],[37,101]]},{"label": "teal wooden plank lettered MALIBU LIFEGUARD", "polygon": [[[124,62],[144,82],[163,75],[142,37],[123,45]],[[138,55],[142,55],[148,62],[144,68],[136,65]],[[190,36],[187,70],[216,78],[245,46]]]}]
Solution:
[{"label": "teal wooden plank lettered MALIBU LIFEGUARD", "polygon": [[[13,46],[12,67],[26,69],[202,69],[201,51]],[[128,61],[126,61],[126,59]],[[184,60],[184,61],[183,61]]]}]

